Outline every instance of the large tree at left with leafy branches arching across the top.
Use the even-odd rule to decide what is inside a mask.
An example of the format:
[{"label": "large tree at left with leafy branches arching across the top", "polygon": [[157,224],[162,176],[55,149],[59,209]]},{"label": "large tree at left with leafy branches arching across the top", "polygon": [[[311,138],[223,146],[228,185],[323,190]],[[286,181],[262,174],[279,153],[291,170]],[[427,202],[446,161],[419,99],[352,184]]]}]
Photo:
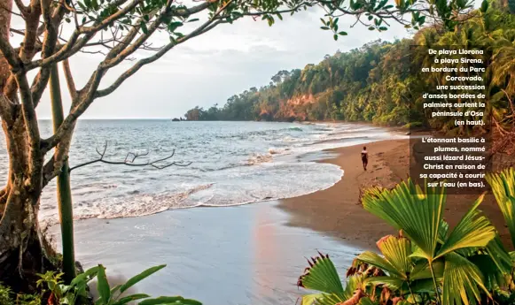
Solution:
[{"label": "large tree at left with leafy branches arching across the top", "polygon": [[[67,161],[76,122],[92,103],[113,94],[144,65],[216,27],[244,18],[261,18],[272,26],[276,19],[314,6],[324,8],[324,30],[338,40],[347,35],[339,28],[339,19],[361,19],[371,31],[379,32],[387,30],[389,21],[417,29],[425,19],[437,19],[452,28],[461,22],[459,16],[471,10],[472,2],[0,0],[0,118],[8,156],[4,163],[8,175],[0,189],[0,280],[18,293],[35,290],[36,271],[62,270],[66,284],[74,278]],[[98,59],[83,84],[75,81],[70,65],[79,53]],[[127,70],[116,69],[134,57],[138,60],[127,65]],[[66,111],[60,98],[59,65],[71,101]],[[105,75],[115,71],[120,74],[108,81]],[[44,137],[37,107],[49,87],[54,130]],[[63,245],[59,263],[38,224],[43,188],[56,178]]]}]

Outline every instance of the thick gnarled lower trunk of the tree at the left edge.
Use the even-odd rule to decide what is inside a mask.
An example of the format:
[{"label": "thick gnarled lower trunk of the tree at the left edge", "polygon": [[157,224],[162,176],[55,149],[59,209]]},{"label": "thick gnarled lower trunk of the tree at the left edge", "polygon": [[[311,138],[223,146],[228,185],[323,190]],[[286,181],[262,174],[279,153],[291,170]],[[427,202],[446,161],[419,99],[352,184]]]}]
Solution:
[{"label": "thick gnarled lower trunk of the tree at the left edge", "polygon": [[[40,231],[37,212],[42,190],[43,175],[34,175],[43,168],[43,156],[29,160],[27,130],[20,111],[12,125],[3,120],[9,176],[0,197],[0,281],[13,291],[31,292],[35,286],[35,273],[51,267],[51,247]],[[38,169],[39,167],[39,169]],[[54,268],[51,268],[55,270]]]}]

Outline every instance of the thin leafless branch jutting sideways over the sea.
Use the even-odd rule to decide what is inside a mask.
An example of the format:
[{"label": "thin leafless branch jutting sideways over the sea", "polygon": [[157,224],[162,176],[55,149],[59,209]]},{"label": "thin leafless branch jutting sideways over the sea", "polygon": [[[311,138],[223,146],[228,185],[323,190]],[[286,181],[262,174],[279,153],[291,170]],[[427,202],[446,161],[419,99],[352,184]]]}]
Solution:
[{"label": "thin leafless branch jutting sideways over the sea", "polygon": [[75,165],[74,167],[70,168],[70,172],[72,172],[74,169],[81,168],[83,166],[87,166],[87,165],[90,165],[90,164],[96,164],[96,163],[113,164],[113,165],[140,166],[140,167],[141,166],[152,166],[153,168],[156,168],[158,170],[162,170],[162,169],[165,169],[165,168],[170,167],[170,166],[182,166],[182,167],[185,167],[185,166],[190,166],[191,165],[191,162],[186,162],[186,163],[182,163],[182,162],[168,162],[168,163],[162,164],[162,163],[168,161],[169,159],[171,159],[173,156],[175,156],[175,154],[176,154],[176,150],[175,149],[172,151],[172,154],[170,156],[166,156],[166,157],[163,157],[163,158],[160,158],[160,159],[157,159],[157,160],[153,160],[153,161],[147,161],[147,162],[144,162],[144,163],[135,163],[135,161],[140,156],[148,156],[148,152],[145,152],[145,153],[142,153],[142,154],[129,152],[129,153],[127,153],[127,156],[125,156],[125,159],[123,161],[108,161],[108,160],[105,160],[105,152],[106,151],[107,151],[107,142],[105,142],[104,149],[102,149],[102,151],[97,149],[97,153],[98,153],[98,156],[99,156],[98,159],[91,160],[91,161],[83,163],[83,164]]}]

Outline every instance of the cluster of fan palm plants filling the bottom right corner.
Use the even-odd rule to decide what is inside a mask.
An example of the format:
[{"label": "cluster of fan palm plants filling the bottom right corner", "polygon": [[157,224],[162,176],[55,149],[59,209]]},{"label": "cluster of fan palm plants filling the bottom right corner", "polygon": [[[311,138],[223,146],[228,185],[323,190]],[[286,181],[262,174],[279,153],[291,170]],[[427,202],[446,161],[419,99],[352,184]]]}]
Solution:
[{"label": "cluster of fan palm plants filling the bottom right corner", "polygon": [[[515,246],[515,170],[487,180]],[[312,258],[298,285],[319,293],[304,296],[302,304],[513,304],[515,252],[503,247],[478,210],[483,197],[449,229],[445,187],[423,189],[408,179],[393,189],[366,190],[363,208],[399,234],[378,240],[379,254],[357,255],[345,287],[329,255]]]}]

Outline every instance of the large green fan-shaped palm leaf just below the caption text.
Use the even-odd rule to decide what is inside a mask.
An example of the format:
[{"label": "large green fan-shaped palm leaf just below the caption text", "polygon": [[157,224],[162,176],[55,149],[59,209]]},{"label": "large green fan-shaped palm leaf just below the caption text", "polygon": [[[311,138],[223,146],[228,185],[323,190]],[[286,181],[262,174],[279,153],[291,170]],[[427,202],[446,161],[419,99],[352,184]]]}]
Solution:
[{"label": "large green fan-shaped palm leaf just below the caption text", "polygon": [[432,261],[445,199],[444,188],[425,187],[423,192],[408,179],[392,190],[368,190],[363,195],[363,208],[396,229],[402,229],[402,232],[420,248],[420,255]]}]

